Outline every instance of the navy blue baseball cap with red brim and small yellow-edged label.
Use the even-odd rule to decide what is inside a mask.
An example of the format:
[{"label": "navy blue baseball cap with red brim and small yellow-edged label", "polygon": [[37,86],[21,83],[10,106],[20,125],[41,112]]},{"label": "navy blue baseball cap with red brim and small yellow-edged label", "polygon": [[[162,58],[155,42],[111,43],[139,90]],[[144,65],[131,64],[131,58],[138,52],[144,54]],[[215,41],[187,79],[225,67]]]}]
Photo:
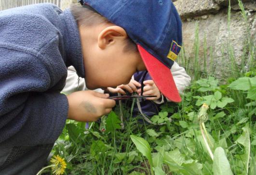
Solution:
[{"label": "navy blue baseball cap with red brim and small yellow-edged label", "polygon": [[136,43],[149,75],[162,94],[180,102],[170,71],[181,50],[182,24],[171,0],[78,0],[122,27]]}]

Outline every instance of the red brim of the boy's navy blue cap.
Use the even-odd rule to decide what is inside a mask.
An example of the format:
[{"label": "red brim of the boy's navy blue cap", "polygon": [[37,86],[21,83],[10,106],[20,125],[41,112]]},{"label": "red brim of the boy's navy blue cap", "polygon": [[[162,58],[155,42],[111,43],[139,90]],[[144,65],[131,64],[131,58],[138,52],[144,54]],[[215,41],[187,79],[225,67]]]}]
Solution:
[{"label": "red brim of the boy's navy blue cap", "polygon": [[149,75],[152,77],[156,86],[162,92],[162,95],[171,101],[180,102],[181,98],[175,85],[171,70],[153,55],[148,53],[148,51],[145,50],[142,46],[137,44],[137,47]]}]

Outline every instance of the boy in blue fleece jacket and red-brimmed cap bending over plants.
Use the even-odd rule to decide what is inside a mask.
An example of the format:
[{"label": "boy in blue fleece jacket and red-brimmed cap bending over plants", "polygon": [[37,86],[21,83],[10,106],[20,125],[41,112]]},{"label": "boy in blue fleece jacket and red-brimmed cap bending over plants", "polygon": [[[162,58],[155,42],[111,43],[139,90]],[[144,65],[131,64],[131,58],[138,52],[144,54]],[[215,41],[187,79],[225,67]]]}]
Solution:
[{"label": "boy in blue fleece jacket and red-brimmed cap bending over plants", "polygon": [[67,66],[89,89],[128,84],[147,68],[165,97],[181,100],[170,72],[182,39],[172,1],[81,4],[64,13],[52,4],[0,12],[0,174],[36,174],[67,118],[95,121],[115,106],[108,94],[61,94]]}]

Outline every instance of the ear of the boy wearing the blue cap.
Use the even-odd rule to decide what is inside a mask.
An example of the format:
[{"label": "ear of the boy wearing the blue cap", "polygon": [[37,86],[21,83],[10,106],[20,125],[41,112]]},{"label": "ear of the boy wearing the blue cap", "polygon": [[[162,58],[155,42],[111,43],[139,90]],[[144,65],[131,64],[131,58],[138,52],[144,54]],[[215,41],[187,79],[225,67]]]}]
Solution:
[{"label": "ear of the boy wearing the blue cap", "polygon": [[126,39],[125,30],[117,25],[108,26],[98,35],[98,46],[105,49],[108,45],[114,44],[117,39]]}]

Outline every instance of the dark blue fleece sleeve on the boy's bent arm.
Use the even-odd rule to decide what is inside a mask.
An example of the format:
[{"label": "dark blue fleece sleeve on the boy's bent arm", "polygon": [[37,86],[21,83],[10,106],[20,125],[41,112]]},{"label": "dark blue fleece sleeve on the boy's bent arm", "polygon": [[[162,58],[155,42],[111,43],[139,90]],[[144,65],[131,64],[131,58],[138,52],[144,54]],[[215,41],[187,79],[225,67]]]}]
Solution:
[{"label": "dark blue fleece sleeve on the boy's bent arm", "polygon": [[68,102],[56,85],[67,70],[55,42],[40,51],[0,43],[0,144],[49,144],[61,134]]}]

